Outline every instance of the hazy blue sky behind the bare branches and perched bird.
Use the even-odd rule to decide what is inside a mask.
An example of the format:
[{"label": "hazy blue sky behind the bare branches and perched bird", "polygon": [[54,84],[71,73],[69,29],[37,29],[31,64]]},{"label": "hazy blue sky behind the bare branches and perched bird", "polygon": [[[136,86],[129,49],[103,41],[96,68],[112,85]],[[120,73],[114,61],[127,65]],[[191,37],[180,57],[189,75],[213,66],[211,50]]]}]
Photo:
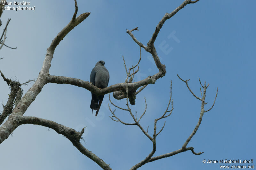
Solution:
[{"label": "hazy blue sky behind the bare branches and perched bird", "polygon": [[[138,26],[139,31],[133,33],[146,45],[164,14],[182,2],[78,0],[78,14],[91,14],[57,46],[50,74],[89,81],[95,63],[104,60],[110,74],[109,85],[124,82],[122,55],[127,66],[131,66],[138,61],[140,52],[126,29]],[[18,48],[1,49],[0,58],[4,59],[0,61],[0,69],[6,77],[15,79],[16,76],[20,82],[37,78],[46,49],[74,12],[73,1],[30,3],[36,11],[4,11],[1,17],[1,29],[7,19],[12,18],[5,44]],[[198,76],[210,84],[205,109],[211,107],[217,87],[219,92],[215,106],[204,114],[202,124],[188,144],[203,154],[183,152],[139,169],[215,170],[221,164],[203,164],[202,160],[255,159],[255,5],[252,0],[200,0],[188,4],[164,23],[155,46],[167,73],[137,95],[136,105],[132,106],[134,112],[142,114],[146,97],[148,109],[141,125],[145,129],[149,125],[148,131],[152,134],[154,119],[162,115],[169,101],[172,80],[174,110],[156,139],[154,156],[179,149],[200,115],[200,101],[191,95],[177,73],[183,79],[190,79],[189,86],[197,96],[200,96]],[[142,49],[140,72],[135,81],[156,73],[152,57]],[[4,81],[0,81],[0,86],[1,100],[6,103],[9,88]],[[24,93],[31,86],[24,86]],[[125,107],[124,100],[111,99]],[[109,118],[107,96],[97,117],[92,115],[90,101],[88,90],[46,84],[25,116],[53,120],[78,131],[86,126],[84,146],[113,169],[130,169],[151,152],[151,141],[138,127]],[[132,123],[129,113],[117,110],[116,115]],[[163,123],[164,120],[159,121],[158,130]],[[68,139],[42,126],[19,126],[13,136],[0,145],[0,150],[1,169],[101,169]]]}]

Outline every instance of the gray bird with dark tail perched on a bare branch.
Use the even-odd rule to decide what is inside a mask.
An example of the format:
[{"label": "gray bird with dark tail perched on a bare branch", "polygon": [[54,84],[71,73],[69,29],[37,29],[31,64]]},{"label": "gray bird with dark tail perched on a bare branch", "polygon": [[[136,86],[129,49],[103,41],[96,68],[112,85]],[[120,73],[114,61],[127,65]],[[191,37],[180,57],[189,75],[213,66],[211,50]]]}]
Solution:
[{"label": "gray bird with dark tail perched on a bare branch", "polygon": [[[107,68],[104,66],[105,62],[100,60],[95,64],[95,67],[92,69],[91,75],[90,75],[90,82],[92,84],[100,89],[108,87],[108,81],[109,81],[109,73]],[[100,110],[100,105],[103,101],[104,95],[97,96],[92,93],[92,101],[91,101],[91,109],[92,114],[93,110],[97,110],[95,116],[98,115],[98,112]]]}]

